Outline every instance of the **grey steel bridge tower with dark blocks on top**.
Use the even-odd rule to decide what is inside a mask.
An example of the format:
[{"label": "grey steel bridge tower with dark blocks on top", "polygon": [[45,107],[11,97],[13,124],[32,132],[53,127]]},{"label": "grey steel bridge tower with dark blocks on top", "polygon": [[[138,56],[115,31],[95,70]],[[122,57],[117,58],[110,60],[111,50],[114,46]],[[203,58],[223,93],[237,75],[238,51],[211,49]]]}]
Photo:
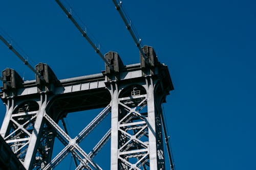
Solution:
[{"label": "grey steel bridge tower with dark blocks on top", "polygon": [[[123,65],[116,52],[109,52],[104,57],[114,69],[105,65],[100,74],[63,80],[44,63],[35,70],[45,81],[37,77],[24,82],[15,70],[5,69],[0,96],[6,114],[0,134],[24,167],[51,169],[72,153],[76,169],[168,169],[161,104],[173,84],[154,49],[145,45],[142,51],[138,64]],[[75,138],[58,126],[70,112],[95,108],[103,110]],[[108,114],[111,129],[104,129],[105,135],[92,151],[84,152],[79,143]],[[52,158],[55,138],[65,148]],[[111,164],[102,168],[93,158],[109,139]]]}]

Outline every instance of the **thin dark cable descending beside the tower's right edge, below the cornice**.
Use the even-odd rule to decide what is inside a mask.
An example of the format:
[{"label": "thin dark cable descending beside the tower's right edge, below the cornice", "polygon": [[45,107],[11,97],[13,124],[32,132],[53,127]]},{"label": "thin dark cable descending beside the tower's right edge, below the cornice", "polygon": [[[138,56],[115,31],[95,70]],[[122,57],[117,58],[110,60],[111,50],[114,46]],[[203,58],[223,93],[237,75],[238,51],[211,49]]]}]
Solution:
[{"label": "thin dark cable descending beside the tower's right edge, below the cornice", "polygon": [[[163,105],[162,105],[163,107]],[[163,115],[163,112],[164,112],[164,115]],[[167,152],[168,152],[168,157],[169,157],[169,162],[170,162],[170,168],[172,170],[175,170],[175,163],[174,163],[174,156],[173,156],[173,151],[172,151],[172,147],[170,145],[170,142],[169,142],[169,135],[168,135],[168,130],[166,130],[166,126],[165,126],[165,123],[164,123],[164,119],[165,119],[165,111],[164,111],[164,107],[163,107],[163,112],[161,112],[161,119],[162,119],[162,125],[163,125],[163,132],[164,132],[164,137],[165,137],[165,144],[166,144],[166,147],[167,147]]]}]

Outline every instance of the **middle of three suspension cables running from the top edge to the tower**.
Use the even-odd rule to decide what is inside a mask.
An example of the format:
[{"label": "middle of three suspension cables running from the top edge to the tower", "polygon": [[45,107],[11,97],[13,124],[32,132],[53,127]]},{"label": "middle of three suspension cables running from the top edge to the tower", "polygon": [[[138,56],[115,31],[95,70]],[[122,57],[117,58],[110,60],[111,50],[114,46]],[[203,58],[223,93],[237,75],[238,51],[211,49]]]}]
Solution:
[{"label": "middle of three suspension cables running from the top edge to the tower", "polygon": [[94,48],[95,52],[100,56],[100,58],[110,67],[111,70],[114,70],[113,66],[105,59],[105,57],[100,52],[99,48],[93,43],[93,41],[87,36],[87,33],[85,30],[82,29],[82,27],[78,24],[78,22],[74,19],[71,12],[69,12],[59,0],[55,0],[56,3],[59,5],[59,7],[65,12],[65,14],[68,16],[68,18],[74,23],[76,28],[82,33],[82,36],[87,39],[87,41],[91,44],[91,46]]}]

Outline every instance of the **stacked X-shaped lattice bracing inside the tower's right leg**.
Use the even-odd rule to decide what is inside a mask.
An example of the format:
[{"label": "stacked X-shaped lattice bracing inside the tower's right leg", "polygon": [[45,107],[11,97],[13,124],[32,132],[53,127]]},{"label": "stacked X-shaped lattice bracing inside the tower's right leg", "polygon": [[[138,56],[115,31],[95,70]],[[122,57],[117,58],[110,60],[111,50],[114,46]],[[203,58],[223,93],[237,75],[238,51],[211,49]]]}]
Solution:
[{"label": "stacked X-shaped lattice bracing inside the tower's right leg", "polygon": [[119,99],[119,169],[147,169],[148,126],[146,94],[132,92],[132,98]]}]

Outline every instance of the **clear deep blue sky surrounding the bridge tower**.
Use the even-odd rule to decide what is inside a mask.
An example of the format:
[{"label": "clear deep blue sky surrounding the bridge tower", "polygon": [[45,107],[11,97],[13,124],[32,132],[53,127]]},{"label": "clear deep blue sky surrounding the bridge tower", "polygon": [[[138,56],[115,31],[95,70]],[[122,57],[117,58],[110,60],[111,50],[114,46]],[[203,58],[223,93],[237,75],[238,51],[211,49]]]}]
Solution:
[{"label": "clear deep blue sky surrounding the bridge tower", "polygon": [[[105,49],[103,53],[118,52],[125,65],[139,63],[139,51],[112,1],[68,2]],[[167,96],[164,110],[176,169],[256,169],[256,2],[122,3],[143,43],[153,46],[170,70],[175,90]],[[58,79],[104,69],[103,61],[55,1],[1,1],[0,16],[1,29],[23,48],[29,62],[49,64]],[[1,70],[10,67],[25,80],[35,78],[2,42],[0,56]],[[0,112],[2,122],[3,105]],[[73,136],[93,114],[68,116]],[[103,128],[110,127],[109,120]],[[100,137],[95,133],[90,139]],[[110,168],[109,148],[110,143],[95,157],[104,169]],[[68,156],[57,169],[74,167],[70,161]]]}]

